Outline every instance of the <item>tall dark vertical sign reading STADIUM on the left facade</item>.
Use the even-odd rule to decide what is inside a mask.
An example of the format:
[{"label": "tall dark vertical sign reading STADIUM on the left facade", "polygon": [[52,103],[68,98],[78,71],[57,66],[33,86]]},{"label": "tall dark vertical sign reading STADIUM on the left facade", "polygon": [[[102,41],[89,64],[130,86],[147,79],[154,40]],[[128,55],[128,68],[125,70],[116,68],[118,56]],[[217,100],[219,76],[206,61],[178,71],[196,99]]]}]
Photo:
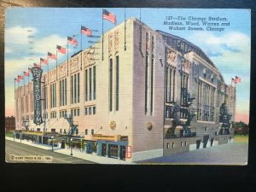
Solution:
[{"label": "tall dark vertical sign reading STADIUM on the left facade", "polygon": [[33,76],[33,92],[34,92],[34,124],[41,125],[42,119],[42,106],[41,106],[41,77],[43,70],[38,67],[32,67]]}]

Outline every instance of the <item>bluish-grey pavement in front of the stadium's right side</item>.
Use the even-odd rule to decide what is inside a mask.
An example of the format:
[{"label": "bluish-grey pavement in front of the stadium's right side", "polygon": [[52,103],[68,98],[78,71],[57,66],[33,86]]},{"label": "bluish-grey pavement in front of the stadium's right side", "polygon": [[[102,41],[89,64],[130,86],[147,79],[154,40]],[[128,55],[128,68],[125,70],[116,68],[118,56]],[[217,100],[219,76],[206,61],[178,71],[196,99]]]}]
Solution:
[{"label": "bluish-grey pavement in front of the stadium's right side", "polygon": [[138,163],[182,165],[247,165],[247,143],[222,144]]}]

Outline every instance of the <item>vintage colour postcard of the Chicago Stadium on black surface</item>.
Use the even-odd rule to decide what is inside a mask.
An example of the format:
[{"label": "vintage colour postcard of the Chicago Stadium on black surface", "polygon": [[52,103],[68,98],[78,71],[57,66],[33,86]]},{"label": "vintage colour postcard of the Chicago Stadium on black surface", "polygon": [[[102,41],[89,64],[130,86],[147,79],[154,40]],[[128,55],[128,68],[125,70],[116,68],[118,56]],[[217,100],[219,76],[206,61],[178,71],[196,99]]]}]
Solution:
[{"label": "vintage colour postcard of the Chicago Stadium on black surface", "polygon": [[247,165],[250,56],[250,9],[7,9],[5,160]]}]

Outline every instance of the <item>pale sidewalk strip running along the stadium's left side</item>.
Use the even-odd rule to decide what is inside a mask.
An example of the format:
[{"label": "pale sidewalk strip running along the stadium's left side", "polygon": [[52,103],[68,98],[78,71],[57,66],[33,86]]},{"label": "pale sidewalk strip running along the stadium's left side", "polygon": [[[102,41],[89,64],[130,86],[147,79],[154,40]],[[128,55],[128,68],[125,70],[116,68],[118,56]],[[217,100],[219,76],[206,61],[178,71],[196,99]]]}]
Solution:
[{"label": "pale sidewalk strip running along the stadium's left side", "polygon": [[[9,141],[14,141],[14,138],[12,137],[5,137],[6,140]],[[16,143],[20,143],[20,139],[15,139]],[[51,150],[51,146],[47,146],[45,144],[39,144],[39,143],[32,143],[32,142],[27,142],[26,140],[21,140],[21,143],[30,145],[36,148],[43,148],[45,150]],[[66,154],[70,156],[70,149],[69,148],[54,148],[55,153],[58,154]],[[99,164],[124,164],[124,165],[131,165],[133,163],[125,161],[125,160],[116,160],[113,158],[108,158],[108,157],[102,157],[102,156],[97,156],[95,154],[86,154],[85,152],[81,152],[78,149],[73,148],[73,157],[79,158],[82,160],[89,160],[91,162],[99,163]]]}]

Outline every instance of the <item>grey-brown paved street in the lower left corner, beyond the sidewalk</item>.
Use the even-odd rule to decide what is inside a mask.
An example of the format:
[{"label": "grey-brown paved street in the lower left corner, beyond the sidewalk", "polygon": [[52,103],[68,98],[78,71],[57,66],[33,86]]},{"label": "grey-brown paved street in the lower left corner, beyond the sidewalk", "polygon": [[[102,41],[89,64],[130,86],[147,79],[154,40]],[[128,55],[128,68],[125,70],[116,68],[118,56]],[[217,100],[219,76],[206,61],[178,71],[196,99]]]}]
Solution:
[{"label": "grey-brown paved street in the lower left corner, beyond the sidewalk", "polygon": [[5,140],[5,160],[6,162],[13,163],[14,160],[11,160],[12,156],[26,156],[26,155],[35,155],[35,156],[51,156],[52,161],[42,161],[42,160],[22,160],[16,161],[19,163],[68,163],[68,164],[92,164],[88,160],[80,160],[72,156],[67,156],[65,154],[57,154],[51,152],[50,150],[45,150],[42,148],[35,148],[22,143],[15,143],[13,141]]}]

